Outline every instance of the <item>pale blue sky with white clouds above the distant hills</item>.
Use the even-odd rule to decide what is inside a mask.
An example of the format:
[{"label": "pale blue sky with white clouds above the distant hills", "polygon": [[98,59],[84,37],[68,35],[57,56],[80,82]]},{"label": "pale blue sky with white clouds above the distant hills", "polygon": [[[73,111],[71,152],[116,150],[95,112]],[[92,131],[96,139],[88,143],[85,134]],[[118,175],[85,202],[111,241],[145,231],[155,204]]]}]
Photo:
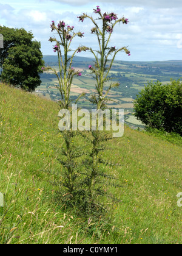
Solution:
[{"label": "pale blue sky with white clouds above the distant hills", "polygon": [[[117,60],[163,61],[182,60],[182,1],[181,0],[0,0],[0,25],[23,27],[32,31],[34,39],[41,41],[44,55],[54,55],[50,24],[64,20],[74,26],[75,32],[84,32],[84,37],[75,38],[72,49],[79,44],[98,49],[96,36],[90,33],[93,25],[86,19],[79,22],[77,16],[93,13],[99,5],[101,12],[114,12],[118,18],[129,19],[128,24],[117,24],[113,30],[110,46],[127,46],[130,56],[120,52]],[[79,56],[93,57],[89,52]]]}]

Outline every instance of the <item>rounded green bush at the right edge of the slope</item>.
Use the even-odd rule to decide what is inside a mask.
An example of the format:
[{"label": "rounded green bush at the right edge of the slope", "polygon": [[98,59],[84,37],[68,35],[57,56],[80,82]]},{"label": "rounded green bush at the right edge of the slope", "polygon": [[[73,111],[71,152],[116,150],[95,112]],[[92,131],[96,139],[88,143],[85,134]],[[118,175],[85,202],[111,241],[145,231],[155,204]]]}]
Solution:
[{"label": "rounded green bush at the right edge of the slope", "polygon": [[182,83],[149,82],[134,101],[134,111],[146,127],[182,135]]}]

